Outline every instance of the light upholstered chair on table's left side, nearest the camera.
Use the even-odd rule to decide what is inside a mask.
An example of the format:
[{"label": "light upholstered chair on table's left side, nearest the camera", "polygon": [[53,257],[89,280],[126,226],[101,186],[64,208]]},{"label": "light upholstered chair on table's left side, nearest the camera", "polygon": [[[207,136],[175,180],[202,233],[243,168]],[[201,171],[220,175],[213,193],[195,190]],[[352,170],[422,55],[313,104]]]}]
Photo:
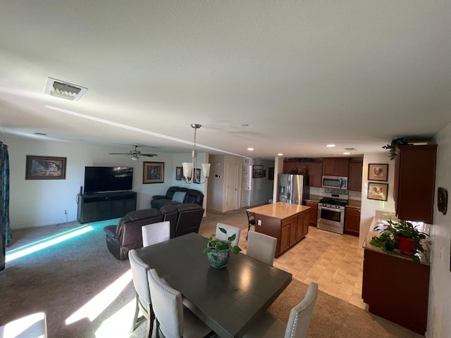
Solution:
[{"label": "light upholstered chair on table's left side, nearest the camera", "polygon": [[209,337],[214,332],[183,306],[182,294],[162,280],[155,269],[147,273],[156,317],[156,337]]}]

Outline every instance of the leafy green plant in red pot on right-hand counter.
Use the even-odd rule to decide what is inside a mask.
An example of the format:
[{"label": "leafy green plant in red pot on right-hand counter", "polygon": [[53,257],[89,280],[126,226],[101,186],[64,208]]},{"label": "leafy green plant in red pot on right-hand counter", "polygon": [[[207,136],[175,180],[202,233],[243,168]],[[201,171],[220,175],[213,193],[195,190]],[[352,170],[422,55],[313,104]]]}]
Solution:
[{"label": "leafy green plant in red pot on right-hand counter", "polygon": [[381,232],[374,236],[369,242],[378,246],[385,252],[404,254],[412,256],[412,260],[419,263],[419,257],[415,256],[418,251],[424,252],[421,241],[426,239],[427,234],[420,232],[407,220],[388,220],[388,225],[378,225],[374,230]]}]

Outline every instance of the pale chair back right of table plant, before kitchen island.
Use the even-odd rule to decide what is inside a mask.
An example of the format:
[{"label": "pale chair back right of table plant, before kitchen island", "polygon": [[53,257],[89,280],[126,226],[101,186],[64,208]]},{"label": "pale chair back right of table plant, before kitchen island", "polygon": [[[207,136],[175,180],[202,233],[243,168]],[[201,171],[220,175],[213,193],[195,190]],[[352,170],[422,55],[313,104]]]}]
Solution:
[{"label": "pale chair back right of table plant, before kitchen island", "polygon": [[249,232],[247,234],[247,256],[251,256],[266,264],[273,265],[276,253],[277,239],[261,232]]}]

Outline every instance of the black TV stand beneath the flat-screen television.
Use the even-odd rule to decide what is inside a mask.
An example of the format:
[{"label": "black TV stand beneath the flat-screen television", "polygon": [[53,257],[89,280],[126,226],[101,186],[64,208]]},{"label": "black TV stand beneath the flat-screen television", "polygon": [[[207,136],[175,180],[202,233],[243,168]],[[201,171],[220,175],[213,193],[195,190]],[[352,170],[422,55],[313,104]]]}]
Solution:
[{"label": "black TV stand beneath the flat-screen television", "polygon": [[80,194],[77,220],[80,223],[121,218],[136,210],[136,192],[93,192]]}]

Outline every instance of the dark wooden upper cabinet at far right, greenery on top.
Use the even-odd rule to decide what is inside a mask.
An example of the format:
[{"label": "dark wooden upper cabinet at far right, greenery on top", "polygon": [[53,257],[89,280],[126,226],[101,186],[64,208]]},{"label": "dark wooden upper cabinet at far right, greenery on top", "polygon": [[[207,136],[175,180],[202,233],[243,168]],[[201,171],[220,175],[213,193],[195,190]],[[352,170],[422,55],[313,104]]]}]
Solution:
[{"label": "dark wooden upper cabinet at far right, greenery on top", "polygon": [[399,146],[393,197],[401,220],[433,223],[437,144]]}]

